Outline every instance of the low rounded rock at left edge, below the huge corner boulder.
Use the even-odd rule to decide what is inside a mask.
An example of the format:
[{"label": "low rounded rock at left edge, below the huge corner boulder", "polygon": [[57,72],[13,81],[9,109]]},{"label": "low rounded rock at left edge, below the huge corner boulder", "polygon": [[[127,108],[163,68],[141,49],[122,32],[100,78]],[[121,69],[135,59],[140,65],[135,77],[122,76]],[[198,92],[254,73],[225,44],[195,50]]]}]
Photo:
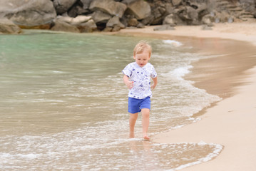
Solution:
[{"label": "low rounded rock at left edge, below the huge corner boulder", "polygon": [[21,28],[9,19],[0,19],[0,33],[16,34],[21,33]]}]

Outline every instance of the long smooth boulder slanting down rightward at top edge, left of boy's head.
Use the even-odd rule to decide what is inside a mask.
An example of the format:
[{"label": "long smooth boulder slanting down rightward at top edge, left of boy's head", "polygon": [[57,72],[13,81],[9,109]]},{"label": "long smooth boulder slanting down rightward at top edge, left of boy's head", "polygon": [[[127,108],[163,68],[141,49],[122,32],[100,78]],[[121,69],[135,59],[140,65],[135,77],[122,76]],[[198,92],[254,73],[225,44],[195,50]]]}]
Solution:
[{"label": "long smooth boulder slanting down rightward at top edge, left of boy's head", "polygon": [[91,2],[89,9],[92,11],[103,11],[111,16],[121,18],[126,11],[126,5],[113,0],[94,0]]}]

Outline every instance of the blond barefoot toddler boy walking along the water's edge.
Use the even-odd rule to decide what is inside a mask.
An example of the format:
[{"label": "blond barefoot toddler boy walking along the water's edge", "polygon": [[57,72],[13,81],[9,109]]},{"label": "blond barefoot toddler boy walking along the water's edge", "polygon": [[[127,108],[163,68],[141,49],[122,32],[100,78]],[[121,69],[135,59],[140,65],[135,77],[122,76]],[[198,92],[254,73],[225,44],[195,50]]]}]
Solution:
[{"label": "blond barefoot toddler boy walking along the water's edge", "polygon": [[[130,138],[134,138],[134,126],[138,113],[142,113],[143,138],[149,140],[148,125],[150,113],[150,97],[158,83],[157,73],[153,65],[148,63],[152,48],[145,41],[140,41],[133,50],[135,62],[128,64],[123,69],[123,82],[130,89],[128,93],[128,112],[130,113]],[[150,78],[153,79],[153,86],[150,87]]]}]

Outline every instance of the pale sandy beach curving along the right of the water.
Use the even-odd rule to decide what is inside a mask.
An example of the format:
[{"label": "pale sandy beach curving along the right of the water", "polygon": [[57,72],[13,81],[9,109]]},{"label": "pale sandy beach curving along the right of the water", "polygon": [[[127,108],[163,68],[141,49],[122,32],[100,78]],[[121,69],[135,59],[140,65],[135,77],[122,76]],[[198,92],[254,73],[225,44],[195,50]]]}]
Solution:
[{"label": "pale sandy beach curving along the right of the water", "polygon": [[[158,38],[170,38],[171,36],[224,38],[244,41],[245,43],[242,43],[244,46],[240,48],[251,52],[256,46],[256,23],[252,22],[215,24],[212,30],[203,30],[202,26],[176,26],[175,30],[170,31],[153,31],[153,28],[154,26],[124,29],[118,34]],[[219,95],[223,100],[203,110],[203,114],[200,113],[199,117],[201,120],[197,123],[153,137],[153,142],[206,142],[223,145],[224,149],[215,159],[183,170],[240,171],[256,168],[256,53],[255,55],[240,54],[238,48],[239,46],[234,49],[237,51],[236,56],[227,57],[225,60],[212,58],[195,63],[192,72],[195,72],[198,78],[186,76],[186,79],[195,81],[196,87]],[[208,50],[214,53],[215,48]],[[249,60],[239,60],[242,56],[249,56],[247,58]],[[230,61],[232,61],[232,66],[228,65]],[[209,63],[213,65],[210,66]],[[220,67],[220,72],[210,71],[210,68],[217,67]],[[229,72],[221,72],[221,68],[227,67],[232,69]],[[198,74],[202,71],[205,71],[204,75],[199,76]],[[223,79],[220,79],[222,76]]]}]

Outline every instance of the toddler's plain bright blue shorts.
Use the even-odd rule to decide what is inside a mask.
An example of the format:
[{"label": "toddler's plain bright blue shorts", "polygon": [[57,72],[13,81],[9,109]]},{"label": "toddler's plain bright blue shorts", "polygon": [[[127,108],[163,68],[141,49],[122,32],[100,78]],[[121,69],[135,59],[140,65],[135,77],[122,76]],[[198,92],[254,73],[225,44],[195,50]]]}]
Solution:
[{"label": "toddler's plain bright blue shorts", "polygon": [[150,110],[150,97],[137,99],[128,98],[128,113],[139,113],[141,109],[148,108]]}]

